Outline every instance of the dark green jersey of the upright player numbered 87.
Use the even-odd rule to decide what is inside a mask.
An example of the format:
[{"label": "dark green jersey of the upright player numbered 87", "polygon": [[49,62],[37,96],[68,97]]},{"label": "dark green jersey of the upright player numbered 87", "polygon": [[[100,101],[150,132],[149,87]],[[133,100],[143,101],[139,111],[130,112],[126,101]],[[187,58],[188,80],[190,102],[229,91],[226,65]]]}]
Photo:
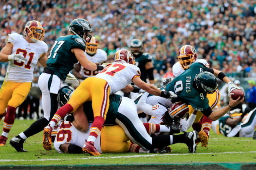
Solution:
[{"label": "dark green jersey of the upright player numbered 87", "polygon": [[63,81],[78,62],[76,55],[71,52],[72,48],[85,50],[84,40],[77,35],[60,36],[54,42],[46,62],[47,68]]}]

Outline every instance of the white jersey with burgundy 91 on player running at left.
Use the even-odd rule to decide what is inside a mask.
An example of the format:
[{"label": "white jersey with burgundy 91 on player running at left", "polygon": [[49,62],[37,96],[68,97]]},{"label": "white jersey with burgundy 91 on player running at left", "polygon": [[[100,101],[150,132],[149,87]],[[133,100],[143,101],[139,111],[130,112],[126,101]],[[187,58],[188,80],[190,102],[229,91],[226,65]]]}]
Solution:
[{"label": "white jersey with burgundy 91 on player running at left", "polygon": [[13,44],[12,54],[21,54],[28,59],[26,62],[9,61],[5,79],[11,82],[32,82],[34,68],[42,54],[47,53],[48,46],[44,41],[29,43],[18,34],[9,34],[7,42]]}]

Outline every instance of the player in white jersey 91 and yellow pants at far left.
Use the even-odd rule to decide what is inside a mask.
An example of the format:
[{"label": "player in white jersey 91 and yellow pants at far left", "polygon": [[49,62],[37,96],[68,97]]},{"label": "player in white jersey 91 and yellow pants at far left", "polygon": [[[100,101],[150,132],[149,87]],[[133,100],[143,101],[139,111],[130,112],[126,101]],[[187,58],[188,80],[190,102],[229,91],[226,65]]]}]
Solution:
[{"label": "player in white jersey 91 and yellow pants at far left", "polygon": [[24,28],[24,36],[18,33],[9,34],[6,38],[7,43],[0,52],[0,61],[9,61],[6,77],[0,89],[0,120],[5,116],[0,146],[6,143],[14,123],[16,108],[30,91],[37,62],[46,66],[48,46],[42,41],[43,37],[44,28],[41,23],[36,20],[29,21]]}]

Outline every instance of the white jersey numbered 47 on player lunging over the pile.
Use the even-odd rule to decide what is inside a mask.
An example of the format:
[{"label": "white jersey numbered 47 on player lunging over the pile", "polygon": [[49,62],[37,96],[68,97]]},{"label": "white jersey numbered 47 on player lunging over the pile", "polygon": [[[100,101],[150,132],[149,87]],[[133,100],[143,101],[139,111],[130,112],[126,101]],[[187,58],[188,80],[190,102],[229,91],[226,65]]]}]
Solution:
[{"label": "white jersey numbered 47 on player lunging over the pile", "polygon": [[140,77],[140,69],[129,63],[114,62],[108,64],[95,77],[106,80],[110,86],[110,94],[115,94],[131,84],[134,78]]}]

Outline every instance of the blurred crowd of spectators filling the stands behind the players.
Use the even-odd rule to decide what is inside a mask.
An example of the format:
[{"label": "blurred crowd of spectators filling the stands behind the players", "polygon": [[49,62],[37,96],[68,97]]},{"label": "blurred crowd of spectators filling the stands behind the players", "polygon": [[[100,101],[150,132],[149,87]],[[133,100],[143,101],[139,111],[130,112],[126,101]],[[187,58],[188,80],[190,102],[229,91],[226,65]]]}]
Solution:
[{"label": "blurred crowd of spectators filling the stands behind the players", "polygon": [[[51,48],[57,37],[68,34],[70,21],[85,18],[109,62],[116,50],[141,39],[153,56],[156,80],[172,77],[185,44],[228,76],[256,77],[255,14],[252,0],[1,0],[0,49],[6,36],[22,34],[29,20],[42,23]],[[4,77],[7,64],[0,67]]]}]

